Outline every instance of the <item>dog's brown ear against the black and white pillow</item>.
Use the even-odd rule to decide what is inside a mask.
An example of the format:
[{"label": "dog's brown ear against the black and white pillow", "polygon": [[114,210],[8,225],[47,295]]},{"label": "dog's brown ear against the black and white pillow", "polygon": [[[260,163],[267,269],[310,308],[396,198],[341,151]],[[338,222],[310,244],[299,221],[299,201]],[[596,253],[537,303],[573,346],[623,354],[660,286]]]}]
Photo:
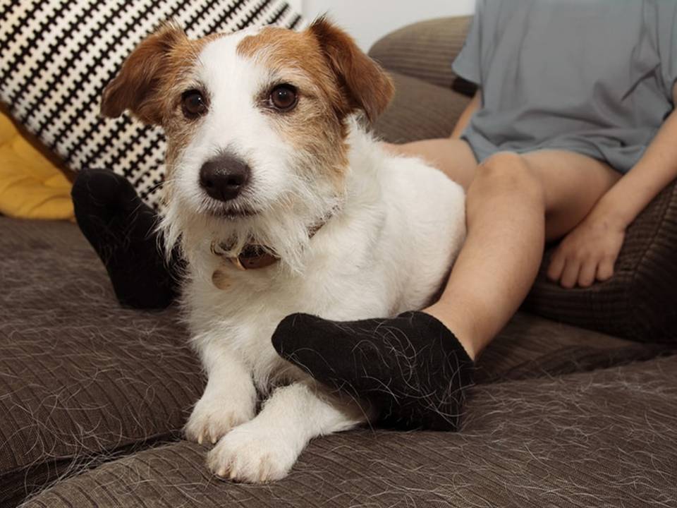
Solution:
[{"label": "dog's brown ear against the black and white pillow", "polygon": [[101,114],[113,118],[129,109],[144,123],[161,123],[159,85],[166,76],[167,59],[172,49],[187,39],[176,23],[166,23],[143,40],[106,85]]}]

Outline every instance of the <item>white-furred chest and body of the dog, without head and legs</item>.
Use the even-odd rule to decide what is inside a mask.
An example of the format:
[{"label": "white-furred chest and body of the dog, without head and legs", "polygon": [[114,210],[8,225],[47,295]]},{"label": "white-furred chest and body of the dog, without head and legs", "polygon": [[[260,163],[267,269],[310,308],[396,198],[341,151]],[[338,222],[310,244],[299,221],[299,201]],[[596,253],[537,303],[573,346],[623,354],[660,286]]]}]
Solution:
[{"label": "white-furred chest and body of the dog, without head and legs", "polygon": [[[346,201],[305,252],[305,270],[282,263],[242,272],[205,252],[184,301],[197,349],[225,341],[252,368],[259,389],[298,373],[271,344],[283,317],[303,312],[332,320],[389,317],[430,303],[465,236],[460,186],[418,159],[391,157],[353,133]],[[210,273],[221,270],[226,289]]]}]

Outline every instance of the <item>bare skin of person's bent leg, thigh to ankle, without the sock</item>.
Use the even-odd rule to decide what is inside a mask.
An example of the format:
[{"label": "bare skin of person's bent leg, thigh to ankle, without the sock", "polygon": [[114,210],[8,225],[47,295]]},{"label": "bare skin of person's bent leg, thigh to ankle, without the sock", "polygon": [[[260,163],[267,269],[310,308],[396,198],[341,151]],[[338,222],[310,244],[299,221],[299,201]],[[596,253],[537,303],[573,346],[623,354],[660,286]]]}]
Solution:
[{"label": "bare skin of person's bent leg, thigh to ankle, without the sock", "polygon": [[617,179],[606,164],[555,150],[480,164],[468,189],[468,238],[444,294],[425,312],[476,358],[527,295],[546,238],[573,229]]}]

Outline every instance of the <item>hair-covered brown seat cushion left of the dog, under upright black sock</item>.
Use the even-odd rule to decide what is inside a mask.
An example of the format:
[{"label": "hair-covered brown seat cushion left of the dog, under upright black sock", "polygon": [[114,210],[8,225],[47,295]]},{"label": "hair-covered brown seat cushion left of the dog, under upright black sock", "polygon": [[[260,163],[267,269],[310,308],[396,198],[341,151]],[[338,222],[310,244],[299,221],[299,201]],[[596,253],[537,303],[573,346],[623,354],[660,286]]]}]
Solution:
[{"label": "hair-covered brown seat cushion left of the dog, under upright black sock", "polygon": [[176,310],[118,307],[75,224],[0,217],[0,506],[176,437],[202,390]]}]

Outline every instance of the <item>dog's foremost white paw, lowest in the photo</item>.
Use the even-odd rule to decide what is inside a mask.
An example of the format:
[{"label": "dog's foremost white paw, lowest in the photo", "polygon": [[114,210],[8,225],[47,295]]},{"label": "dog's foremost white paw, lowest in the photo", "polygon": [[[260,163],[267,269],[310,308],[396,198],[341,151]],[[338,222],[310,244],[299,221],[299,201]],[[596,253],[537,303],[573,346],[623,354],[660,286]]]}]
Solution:
[{"label": "dog's foremost white paw, lowest in the photo", "polygon": [[293,444],[250,422],[221,438],[207,465],[221,478],[264,483],[287,476],[299,454]]}]

